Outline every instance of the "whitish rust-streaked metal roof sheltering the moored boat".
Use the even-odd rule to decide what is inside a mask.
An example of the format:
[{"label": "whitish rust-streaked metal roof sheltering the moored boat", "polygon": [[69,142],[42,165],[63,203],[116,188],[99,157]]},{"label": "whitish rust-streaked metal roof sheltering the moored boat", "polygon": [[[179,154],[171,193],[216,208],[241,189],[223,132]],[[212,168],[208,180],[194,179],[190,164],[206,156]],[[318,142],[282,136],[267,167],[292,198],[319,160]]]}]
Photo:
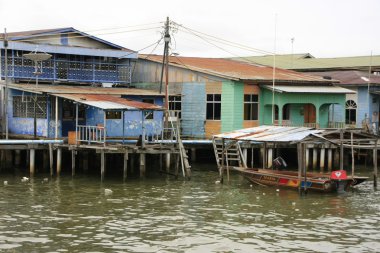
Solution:
[{"label": "whitish rust-streaked metal roof sheltering the moored boat", "polygon": [[222,133],[214,137],[239,141],[296,142],[323,131],[308,127],[259,126]]}]

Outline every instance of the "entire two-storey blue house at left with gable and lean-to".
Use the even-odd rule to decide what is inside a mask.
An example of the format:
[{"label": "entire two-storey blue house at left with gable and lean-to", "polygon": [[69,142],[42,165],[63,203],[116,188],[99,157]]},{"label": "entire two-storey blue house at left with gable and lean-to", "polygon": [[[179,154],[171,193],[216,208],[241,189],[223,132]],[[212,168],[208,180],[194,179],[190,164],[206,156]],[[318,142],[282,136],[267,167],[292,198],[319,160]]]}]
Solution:
[{"label": "entire two-storey blue house at left with gable and lean-to", "polygon": [[[3,132],[5,115],[9,134],[20,137],[61,138],[77,131],[77,139],[105,142],[162,131],[163,95],[126,88],[137,52],[74,28],[8,33],[7,47],[0,37],[3,97],[8,76]],[[51,55],[38,62],[38,79],[31,53]]]}]

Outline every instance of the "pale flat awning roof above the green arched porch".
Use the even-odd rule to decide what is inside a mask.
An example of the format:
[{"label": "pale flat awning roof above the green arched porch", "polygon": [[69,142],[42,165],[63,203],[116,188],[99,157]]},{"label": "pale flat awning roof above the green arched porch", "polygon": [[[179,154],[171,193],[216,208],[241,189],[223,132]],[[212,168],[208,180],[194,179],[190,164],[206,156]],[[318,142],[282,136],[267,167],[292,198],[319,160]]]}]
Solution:
[{"label": "pale flat awning roof above the green arched porch", "polygon": [[[273,90],[273,86],[264,85],[266,89]],[[356,93],[353,90],[345,89],[338,86],[285,86],[285,85],[276,85],[274,87],[276,92],[280,93],[335,93],[335,94],[354,94]]]}]

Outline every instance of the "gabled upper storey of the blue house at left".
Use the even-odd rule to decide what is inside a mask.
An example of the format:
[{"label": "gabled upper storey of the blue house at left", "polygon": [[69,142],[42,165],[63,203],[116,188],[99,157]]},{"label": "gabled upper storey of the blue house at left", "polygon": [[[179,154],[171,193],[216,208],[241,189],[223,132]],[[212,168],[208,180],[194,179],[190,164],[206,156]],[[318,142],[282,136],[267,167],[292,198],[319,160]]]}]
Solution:
[{"label": "gabled upper storey of the blue house at left", "polygon": [[[35,78],[29,52],[45,52],[51,59],[42,63],[41,81],[125,85],[131,82],[131,62],[137,52],[91,36],[74,28],[8,33],[8,77],[15,82]],[[4,79],[4,34],[0,34],[0,76]]]}]

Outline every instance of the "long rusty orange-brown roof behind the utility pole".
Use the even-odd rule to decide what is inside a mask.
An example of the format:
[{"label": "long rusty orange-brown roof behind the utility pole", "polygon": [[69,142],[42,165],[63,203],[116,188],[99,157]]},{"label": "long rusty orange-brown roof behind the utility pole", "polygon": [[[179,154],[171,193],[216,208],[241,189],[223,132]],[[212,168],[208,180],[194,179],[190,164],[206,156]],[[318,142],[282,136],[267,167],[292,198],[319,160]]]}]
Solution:
[{"label": "long rusty orange-brown roof behind the utility pole", "polygon": [[[158,63],[162,62],[162,56],[160,55],[145,55],[142,59]],[[230,59],[172,56],[169,58],[169,62],[172,66],[232,80],[272,81],[273,79],[272,67]],[[321,77],[278,68],[276,68],[275,79],[278,82],[332,82]]]}]

